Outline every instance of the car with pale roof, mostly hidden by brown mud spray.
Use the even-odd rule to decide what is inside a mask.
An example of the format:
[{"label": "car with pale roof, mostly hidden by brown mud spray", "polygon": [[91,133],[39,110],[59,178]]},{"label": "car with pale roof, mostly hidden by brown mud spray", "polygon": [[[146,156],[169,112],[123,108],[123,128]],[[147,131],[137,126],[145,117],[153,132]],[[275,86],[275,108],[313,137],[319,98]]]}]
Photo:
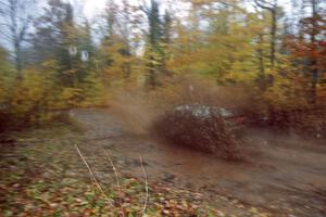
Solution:
[{"label": "car with pale roof, mostly hidden by brown mud spray", "polygon": [[153,129],[176,145],[195,148],[227,161],[242,158],[236,131],[242,118],[223,107],[183,104],[166,112]]}]

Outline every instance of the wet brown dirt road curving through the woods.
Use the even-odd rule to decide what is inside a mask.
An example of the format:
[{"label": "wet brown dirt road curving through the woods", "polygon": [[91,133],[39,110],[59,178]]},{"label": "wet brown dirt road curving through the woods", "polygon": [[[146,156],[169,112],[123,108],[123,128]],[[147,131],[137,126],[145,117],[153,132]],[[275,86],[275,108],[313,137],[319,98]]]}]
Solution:
[{"label": "wet brown dirt road curving through the woods", "polygon": [[120,155],[124,174],[196,189],[212,203],[225,195],[264,207],[276,216],[326,216],[326,146],[266,130],[250,130],[247,142],[259,150],[253,163],[229,164],[206,154],[165,144],[147,133],[133,133],[109,110],[79,110],[71,115],[86,129],[89,145]]}]

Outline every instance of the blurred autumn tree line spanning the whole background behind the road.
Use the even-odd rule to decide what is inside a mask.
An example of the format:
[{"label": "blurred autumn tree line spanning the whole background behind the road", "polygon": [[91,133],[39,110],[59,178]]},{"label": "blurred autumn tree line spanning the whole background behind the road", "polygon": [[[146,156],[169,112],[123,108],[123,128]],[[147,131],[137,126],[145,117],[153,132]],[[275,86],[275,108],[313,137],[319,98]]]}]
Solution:
[{"label": "blurred autumn tree line spanning the whole background behind the road", "polygon": [[102,104],[110,88],[153,91],[186,74],[249,87],[268,106],[323,104],[325,2],[249,3],[108,0],[90,22],[64,0],[1,0],[1,118],[47,119]]}]

